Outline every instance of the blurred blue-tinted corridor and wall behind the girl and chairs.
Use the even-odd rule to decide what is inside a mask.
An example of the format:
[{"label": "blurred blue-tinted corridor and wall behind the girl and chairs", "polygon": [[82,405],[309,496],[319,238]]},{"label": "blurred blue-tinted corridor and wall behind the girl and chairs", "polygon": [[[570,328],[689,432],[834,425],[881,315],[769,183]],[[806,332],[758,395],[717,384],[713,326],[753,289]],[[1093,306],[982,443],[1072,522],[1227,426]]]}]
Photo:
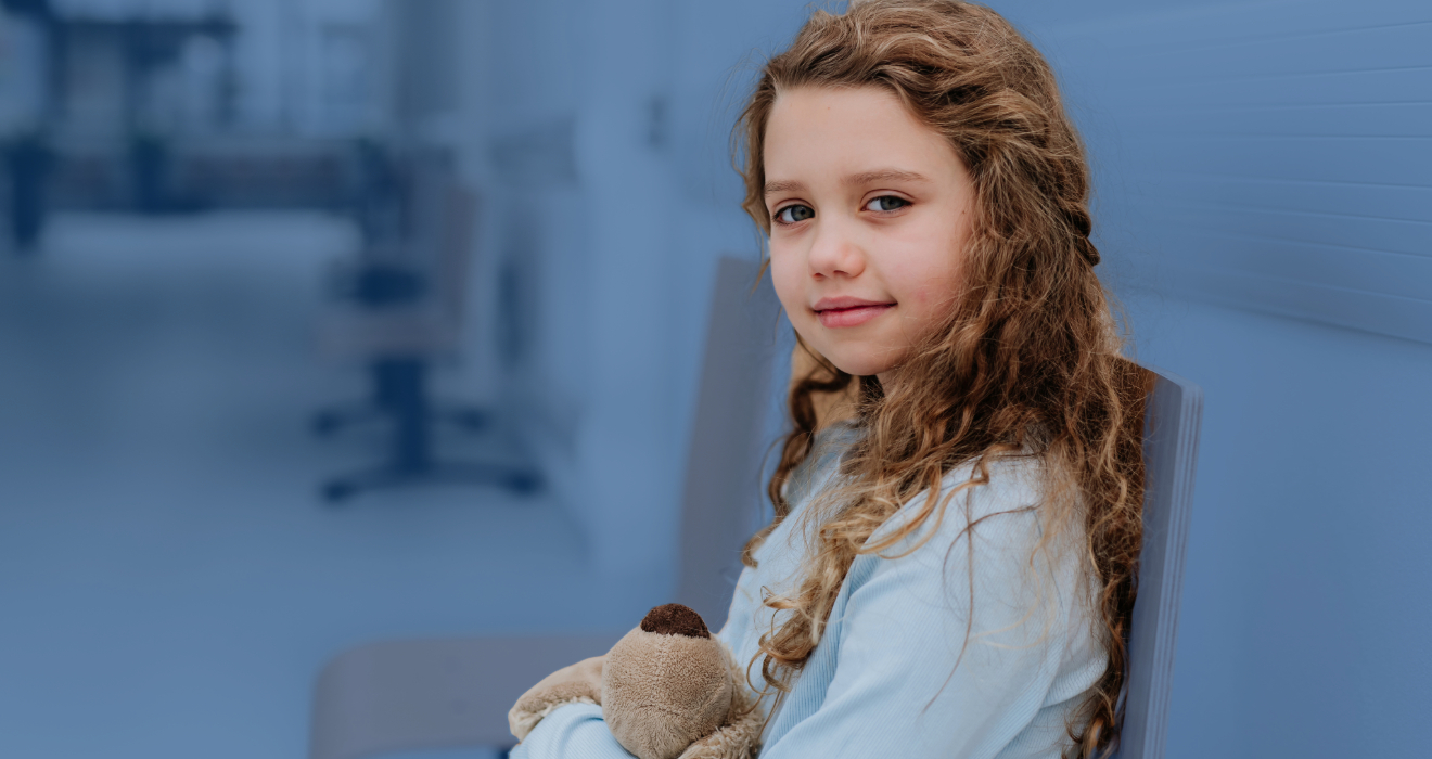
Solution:
[{"label": "blurred blue-tinted corridor and wall behind the girl and chairs", "polygon": [[[1206,391],[1169,756],[1423,753],[1432,6],[992,4]],[[347,647],[664,603],[729,129],[806,13],[4,0],[0,756],[299,758]]]}]

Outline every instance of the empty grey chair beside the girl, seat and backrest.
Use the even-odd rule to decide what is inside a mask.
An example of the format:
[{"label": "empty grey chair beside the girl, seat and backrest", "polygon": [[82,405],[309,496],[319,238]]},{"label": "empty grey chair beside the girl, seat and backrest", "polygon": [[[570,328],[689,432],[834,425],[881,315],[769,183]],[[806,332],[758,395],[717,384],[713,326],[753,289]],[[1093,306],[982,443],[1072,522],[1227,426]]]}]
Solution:
[{"label": "empty grey chair beside the girl, seat and backrest", "polygon": [[[692,430],[676,599],[725,624],[740,548],[755,533],[779,305],[758,266],[719,264]],[[511,746],[507,710],[547,675],[610,649],[626,630],[547,637],[385,640],[335,656],[314,689],[311,759]]]}]

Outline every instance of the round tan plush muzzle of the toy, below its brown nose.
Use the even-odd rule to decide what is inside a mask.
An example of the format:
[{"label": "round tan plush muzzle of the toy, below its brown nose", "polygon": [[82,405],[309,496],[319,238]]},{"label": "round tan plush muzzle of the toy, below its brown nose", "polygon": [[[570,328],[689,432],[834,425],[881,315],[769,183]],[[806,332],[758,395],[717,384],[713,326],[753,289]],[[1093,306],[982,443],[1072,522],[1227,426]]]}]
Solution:
[{"label": "round tan plush muzzle of the toy, below its brown nose", "polygon": [[637,627],[607,652],[601,717],[640,759],[676,759],[726,722],[732,687],[720,640]]}]

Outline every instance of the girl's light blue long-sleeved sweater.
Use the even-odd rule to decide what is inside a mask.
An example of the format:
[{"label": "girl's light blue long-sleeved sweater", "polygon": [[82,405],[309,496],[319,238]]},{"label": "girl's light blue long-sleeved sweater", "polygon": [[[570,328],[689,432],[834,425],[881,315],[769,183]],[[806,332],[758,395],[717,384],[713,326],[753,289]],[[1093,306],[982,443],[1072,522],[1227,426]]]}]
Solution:
[{"label": "girl's light blue long-sleeved sweater", "polygon": [[[772,620],[789,613],[763,606],[762,589],[793,590],[809,540],[799,517],[833,480],[853,434],[839,425],[821,435],[816,455],[792,477],[792,513],[756,550],[759,566],[742,571],[717,633],[737,662],[750,662]],[[952,470],[945,491],[969,474],[968,465]],[[1040,487],[1034,460],[992,464],[990,483],[957,494],[942,518],[931,514],[884,556],[858,556],[819,644],[766,723],[760,758],[1060,756],[1070,745],[1065,722],[1103,675],[1106,657],[1093,633],[1090,583],[1080,583],[1081,536],[1065,530],[1035,550],[1042,514],[1025,507],[1040,503]],[[924,500],[905,504],[872,540],[905,523]],[[765,686],[760,659],[749,675]],[[770,713],[772,702],[768,696],[762,709]],[[511,756],[632,755],[611,738],[600,706],[567,705]]]}]

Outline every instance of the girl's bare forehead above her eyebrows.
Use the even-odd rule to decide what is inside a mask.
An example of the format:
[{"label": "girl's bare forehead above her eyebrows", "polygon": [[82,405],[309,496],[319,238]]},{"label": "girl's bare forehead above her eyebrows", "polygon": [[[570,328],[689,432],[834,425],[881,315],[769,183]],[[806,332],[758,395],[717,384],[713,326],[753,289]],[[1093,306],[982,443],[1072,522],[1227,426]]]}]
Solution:
[{"label": "girl's bare forehead above her eyebrows", "polygon": [[895,168],[958,173],[959,156],[941,133],[882,87],[782,90],[766,122],[768,180],[815,182]]}]

